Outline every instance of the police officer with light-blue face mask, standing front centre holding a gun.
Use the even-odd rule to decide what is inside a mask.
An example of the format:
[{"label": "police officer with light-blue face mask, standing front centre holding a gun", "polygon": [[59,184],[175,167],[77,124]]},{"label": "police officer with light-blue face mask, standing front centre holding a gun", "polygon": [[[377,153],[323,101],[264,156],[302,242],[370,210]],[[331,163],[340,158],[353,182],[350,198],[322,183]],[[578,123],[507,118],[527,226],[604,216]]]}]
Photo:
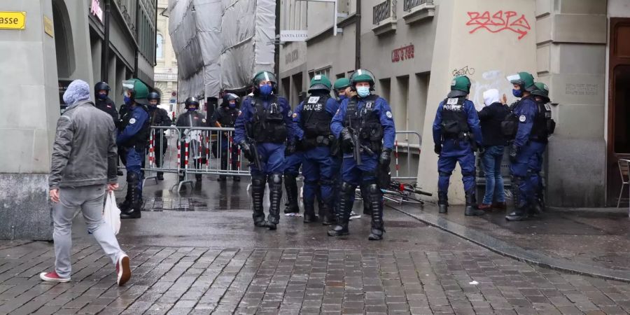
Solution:
[{"label": "police officer with light-blue face mask, standing front centre holding a gun", "polygon": [[[387,101],[374,90],[374,76],[365,69],[356,70],[350,83],[357,95],[344,99],[332,118],[330,129],[342,141],[342,186],[337,212],[337,225],[328,231],[330,236],[347,235],[350,211],[356,186],[364,183],[370,195],[372,230],[370,240],[383,239],[383,193],[377,183],[377,170],[389,166],[395,139],[395,126]],[[358,156],[352,154],[359,148]],[[360,161],[360,163],[359,163]]]}]

